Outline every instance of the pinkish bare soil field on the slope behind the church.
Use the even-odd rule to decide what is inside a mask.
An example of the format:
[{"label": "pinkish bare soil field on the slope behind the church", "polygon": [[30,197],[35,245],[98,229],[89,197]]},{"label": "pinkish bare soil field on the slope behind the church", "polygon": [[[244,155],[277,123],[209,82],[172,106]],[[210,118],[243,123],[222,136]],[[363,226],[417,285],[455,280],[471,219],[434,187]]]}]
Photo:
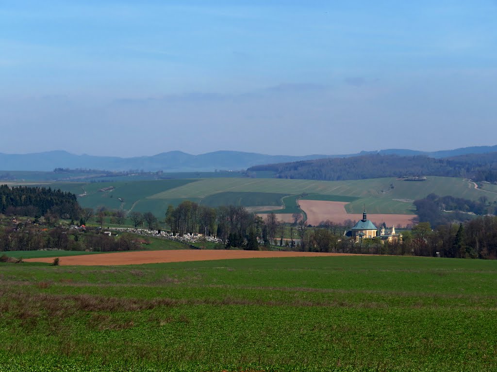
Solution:
[{"label": "pinkish bare soil field on the slope behind the church", "polygon": [[[335,223],[342,223],[345,220],[358,221],[362,219],[362,214],[347,213],[346,202],[342,201],[322,201],[322,200],[299,200],[300,208],[306,212],[308,223],[319,225],[320,222],[330,220]],[[387,226],[401,225],[403,227],[412,224],[416,216],[412,214],[373,214],[368,213],[368,219],[375,224],[385,222]],[[379,227],[377,225],[377,227]]]}]

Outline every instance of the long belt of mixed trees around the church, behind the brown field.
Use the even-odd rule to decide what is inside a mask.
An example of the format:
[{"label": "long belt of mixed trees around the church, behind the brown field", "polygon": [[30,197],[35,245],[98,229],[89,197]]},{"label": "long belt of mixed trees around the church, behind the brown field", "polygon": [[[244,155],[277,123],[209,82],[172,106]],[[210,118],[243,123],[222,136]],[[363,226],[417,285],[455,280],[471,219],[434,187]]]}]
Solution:
[{"label": "long belt of mixed trees around the church, behind the brown field", "polygon": [[[447,207],[457,206],[463,203],[461,200],[464,200],[452,197],[440,198],[436,195],[430,195],[429,199],[443,202]],[[477,208],[479,203],[484,201],[464,205],[468,208]],[[153,230],[160,225],[158,219],[150,212],[144,214],[132,212],[129,217],[135,226],[146,223],[148,228]],[[226,248],[259,249],[260,246],[278,245],[287,246],[288,249],[319,252],[419,256],[436,256],[438,252],[443,257],[497,257],[497,217],[473,216],[471,220],[462,224],[443,223],[434,229],[429,222],[422,222],[414,226],[412,231],[403,232],[402,243],[382,243],[376,238],[365,239],[361,244],[343,236],[343,232],[353,224],[353,221],[349,221],[347,226],[325,221],[319,227],[312,228],[301,217],[300,214],[296,214],[293,224],[284,224],[274,213],[262,218],[249,213],[241,206],[211,208],[184,201],[177,207],[167,208],[164,222],[173,234],[216,235],[225,242]]]}]

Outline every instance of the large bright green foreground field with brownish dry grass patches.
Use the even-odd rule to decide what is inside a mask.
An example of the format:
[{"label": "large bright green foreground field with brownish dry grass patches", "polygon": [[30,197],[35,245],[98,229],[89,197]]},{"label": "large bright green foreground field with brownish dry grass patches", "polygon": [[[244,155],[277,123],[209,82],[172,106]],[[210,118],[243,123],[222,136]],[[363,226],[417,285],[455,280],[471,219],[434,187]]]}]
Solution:
[{"label": "large bright green foreground field with brownish dry grass patches", "polygon": [[0,371],[495,371],[497,261],[0,264]]}]

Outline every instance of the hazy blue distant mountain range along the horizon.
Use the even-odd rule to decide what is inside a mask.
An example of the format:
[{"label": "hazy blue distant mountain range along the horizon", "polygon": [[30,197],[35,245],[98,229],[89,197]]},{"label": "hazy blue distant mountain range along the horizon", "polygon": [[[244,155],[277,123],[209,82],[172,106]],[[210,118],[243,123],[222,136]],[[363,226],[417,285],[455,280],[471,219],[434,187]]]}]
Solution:
[{"label": "hazy blue distant mountain range along the horizon", "polygon": [[106,171],[143,170],[145,172],[210,172],[218,170],[240,171],[263,164],[289,163],[301,160],[323,158],[345,158],[359,155],[424,155],[432,158],[446,158],[465,154],[497,152],[496,146],[465,147],[455,150],[424,152],[406,149],[362,151],[347,155],[263,155],[240,151],[216,151],[191,155],[181,151],[170,151],[154,156],[121,158],[114,156],[75,155],[67,151],[48,151],[32,154],[0,153],[0,171],[53,171],[55,168],[99,169]]}]

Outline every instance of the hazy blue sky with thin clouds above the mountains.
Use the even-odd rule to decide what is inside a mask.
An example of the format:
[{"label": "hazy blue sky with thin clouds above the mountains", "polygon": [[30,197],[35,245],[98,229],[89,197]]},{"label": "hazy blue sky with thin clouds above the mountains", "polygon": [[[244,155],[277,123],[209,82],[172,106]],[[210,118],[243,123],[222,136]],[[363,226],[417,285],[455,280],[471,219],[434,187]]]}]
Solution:
[{"label": "hazy blue sky with thin clouds above the mountains", "polygon": [[0,152],[496,144],[497,1],[1,1]]}]

